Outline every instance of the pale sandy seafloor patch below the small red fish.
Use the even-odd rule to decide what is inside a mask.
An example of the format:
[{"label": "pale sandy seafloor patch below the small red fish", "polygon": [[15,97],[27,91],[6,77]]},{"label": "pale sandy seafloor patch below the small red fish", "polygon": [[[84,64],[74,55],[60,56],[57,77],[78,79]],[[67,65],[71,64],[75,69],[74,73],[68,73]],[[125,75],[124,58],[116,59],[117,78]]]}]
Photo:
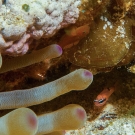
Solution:
[{"label": "pale sandy seafloor patch below the small red fish", "polygon": [[[85,126],[75,131],[67,131],[66,135],[135,135],[135,117],[132,115],[135,111],[135,100],[128,103],[127,99],[121,99],[117,103],[107,104],[102,113],[93,121],[88,114],[89,121]],[[121,106],[124,107],[119,110]],[[131,108],[129,111],[128,108]],[[121,111],[121,113],[119,113]],[[127,111],[127,113],[122,113]]]}]

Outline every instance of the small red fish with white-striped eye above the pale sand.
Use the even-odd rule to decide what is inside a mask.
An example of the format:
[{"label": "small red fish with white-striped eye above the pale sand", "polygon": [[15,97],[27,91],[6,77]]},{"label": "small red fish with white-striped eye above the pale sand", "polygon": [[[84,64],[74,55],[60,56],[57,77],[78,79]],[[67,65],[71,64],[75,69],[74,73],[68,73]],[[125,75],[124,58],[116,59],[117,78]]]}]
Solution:
[{"label": "small red fish with white-striped eye above the pale sand", "polygon": [[111,94],[114,92],[114,90],[115,87],[104,88],[104,90],[94,100],[95,106],[103,106],[107,102]]}]

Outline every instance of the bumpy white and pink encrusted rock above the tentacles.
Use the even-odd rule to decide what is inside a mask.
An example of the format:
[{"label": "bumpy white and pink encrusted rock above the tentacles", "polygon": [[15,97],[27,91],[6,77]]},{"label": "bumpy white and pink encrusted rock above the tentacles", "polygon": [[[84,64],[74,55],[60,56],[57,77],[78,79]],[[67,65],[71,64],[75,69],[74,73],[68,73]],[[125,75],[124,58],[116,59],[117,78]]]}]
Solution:
[{"label": "bumpy white and pink encrusted rock above the tentacles", "polygon": [[80,0],[6,0],[0,6],[1,52],[24,55],[32,38],[52,37],[59,29],[75,23],[80,4]]}]

